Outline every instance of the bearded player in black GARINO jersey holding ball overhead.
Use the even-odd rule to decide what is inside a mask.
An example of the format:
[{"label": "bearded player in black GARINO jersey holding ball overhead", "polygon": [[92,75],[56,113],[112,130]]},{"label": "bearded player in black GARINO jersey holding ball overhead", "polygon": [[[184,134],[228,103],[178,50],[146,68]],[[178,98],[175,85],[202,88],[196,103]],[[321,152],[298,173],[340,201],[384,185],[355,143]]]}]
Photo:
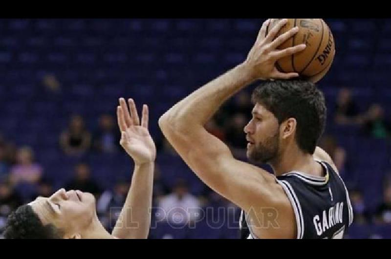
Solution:
[{"label": "bearded player in black GARINO jersey holding ball overhead", "polygon": [[[246,238],[342,238],[352,222],[348,191],[330,156],[316,147],[325,128],[324,96],[313,83],[295,80],[297,73],[276,69],[277,60],[305,45],[278,50],[298,28],[275,39],[286,20],[265,36],[269,22],[242,64],[174,105],[159,127],[199,178],[242,208]],[[274,175],[236,160],[204,129],[228,98],[258,79],[264,81],[244,128],[247,157],[268,163]]]}]

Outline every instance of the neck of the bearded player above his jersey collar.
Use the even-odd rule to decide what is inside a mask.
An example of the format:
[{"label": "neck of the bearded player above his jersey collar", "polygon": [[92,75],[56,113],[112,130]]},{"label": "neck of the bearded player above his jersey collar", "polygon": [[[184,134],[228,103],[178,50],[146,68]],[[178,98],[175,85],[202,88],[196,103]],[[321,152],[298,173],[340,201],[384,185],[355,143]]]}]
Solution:
[{"label": "neck of the bearded player above his jersey collar", "polygon": [[290,149],[282,152],[279,161],[271,163],[274,174],[280,176],[291,171],[303,172],[310,175],[318,175],[321,168],[314,161],[313,156],[300,151],[299,149]]}]

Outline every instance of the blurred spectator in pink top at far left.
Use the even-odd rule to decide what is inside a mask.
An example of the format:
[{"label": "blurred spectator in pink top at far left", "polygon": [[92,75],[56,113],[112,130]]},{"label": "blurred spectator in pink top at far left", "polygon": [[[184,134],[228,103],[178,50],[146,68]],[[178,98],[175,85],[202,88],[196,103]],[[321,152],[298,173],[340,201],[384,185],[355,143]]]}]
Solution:
[{"label": "blurred spectator in pink top at far left", "polygon": [[17,152],[17,164],[10,170],[10,180],[15,186],[19,183],[38,183],[42,176],[42,167],[34,162],[34,153],[29,147],[22,147]]}]

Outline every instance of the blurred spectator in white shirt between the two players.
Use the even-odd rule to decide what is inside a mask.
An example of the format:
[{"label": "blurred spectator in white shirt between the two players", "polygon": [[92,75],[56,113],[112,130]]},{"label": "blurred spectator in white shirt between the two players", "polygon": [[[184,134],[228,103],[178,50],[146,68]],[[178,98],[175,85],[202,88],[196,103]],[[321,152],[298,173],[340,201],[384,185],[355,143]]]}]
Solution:
[{"label": "blurred spectator in white shirt between the two players", "polygon": [[156,215],[157,219],[165,219],[175,224],[189,223],[200,216],[200,203],[194,195],[188,192],[187,183],[182,179],[176,182],[172,194],[160,200],[159,209],[162,209],[163,213]]}]

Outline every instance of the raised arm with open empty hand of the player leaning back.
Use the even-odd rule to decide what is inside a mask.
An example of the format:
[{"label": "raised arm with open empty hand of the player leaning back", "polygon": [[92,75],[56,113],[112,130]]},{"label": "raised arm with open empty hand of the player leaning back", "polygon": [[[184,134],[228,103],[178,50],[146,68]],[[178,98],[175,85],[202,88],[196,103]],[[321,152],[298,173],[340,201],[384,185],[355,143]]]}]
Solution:
[{"label": "raised arm with open empty hand of the player leaning back", "polygon": [[147,238],[151,225],[152,185],[156,148],[148,131],[148,106],[143,106],[141,124],[132,99],[120,98],[117,107],[120,144],[134,161],[130,191],[115,224],[112,236]]}]

